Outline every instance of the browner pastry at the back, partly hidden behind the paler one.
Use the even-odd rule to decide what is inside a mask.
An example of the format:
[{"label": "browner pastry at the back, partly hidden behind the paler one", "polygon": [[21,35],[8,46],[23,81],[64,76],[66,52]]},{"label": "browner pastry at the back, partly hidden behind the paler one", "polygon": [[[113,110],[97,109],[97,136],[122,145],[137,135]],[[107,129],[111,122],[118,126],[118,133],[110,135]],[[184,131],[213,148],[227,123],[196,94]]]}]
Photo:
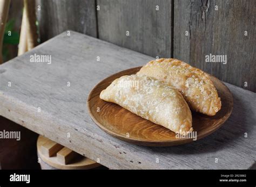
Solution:
[{"label": "browner pastry at the back, partly hidden behind the paler one", "polygon": [[143,66],[138,75],[157,78],[178,89],[190,108],[214,116],[221,108],[218,92],[210,76],[177,59],[152,60]]}]

